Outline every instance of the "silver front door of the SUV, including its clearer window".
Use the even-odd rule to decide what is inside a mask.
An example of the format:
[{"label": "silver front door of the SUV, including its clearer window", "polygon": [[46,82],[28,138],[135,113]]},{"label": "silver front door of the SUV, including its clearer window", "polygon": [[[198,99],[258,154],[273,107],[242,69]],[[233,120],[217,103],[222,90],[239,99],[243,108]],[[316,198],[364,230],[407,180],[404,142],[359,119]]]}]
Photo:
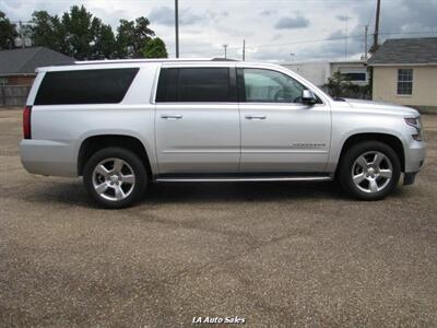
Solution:
[{"label": "silver front door of the SUV, including its clearer window", "polygon": [[329,105],[302,103],[307,89],[280,71],[238,68],[241,173],[321,173],[328,161]]}]

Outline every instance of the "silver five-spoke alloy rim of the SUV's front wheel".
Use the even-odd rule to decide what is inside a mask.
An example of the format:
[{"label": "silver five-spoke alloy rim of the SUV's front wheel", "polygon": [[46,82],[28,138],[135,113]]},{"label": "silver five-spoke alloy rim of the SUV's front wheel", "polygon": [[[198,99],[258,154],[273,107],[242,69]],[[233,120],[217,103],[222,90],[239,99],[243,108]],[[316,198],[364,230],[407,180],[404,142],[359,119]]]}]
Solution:
[{"label": "silver five-spoke alloy rim of the SUV's front wheel", "polygon": [[378,151],[359,155],[352,165],[352,179],[355,186],[368,194],[383,190],[391,180],[393,166],[388,156]]}]

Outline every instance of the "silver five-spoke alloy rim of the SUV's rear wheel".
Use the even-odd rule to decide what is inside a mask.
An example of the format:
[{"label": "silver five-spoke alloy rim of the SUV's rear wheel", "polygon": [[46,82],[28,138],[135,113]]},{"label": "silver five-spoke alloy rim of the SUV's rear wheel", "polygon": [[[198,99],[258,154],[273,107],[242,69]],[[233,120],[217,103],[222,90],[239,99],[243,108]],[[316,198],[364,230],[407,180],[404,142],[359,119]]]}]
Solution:
[{"label": "silver five-spoke alloy rim of the SUV's rear wheel", "polygon": [[111,201],[123,200],[135,186],[132,167],[120,159],[105,159],[93,171],[93,187],[97,195]]}]

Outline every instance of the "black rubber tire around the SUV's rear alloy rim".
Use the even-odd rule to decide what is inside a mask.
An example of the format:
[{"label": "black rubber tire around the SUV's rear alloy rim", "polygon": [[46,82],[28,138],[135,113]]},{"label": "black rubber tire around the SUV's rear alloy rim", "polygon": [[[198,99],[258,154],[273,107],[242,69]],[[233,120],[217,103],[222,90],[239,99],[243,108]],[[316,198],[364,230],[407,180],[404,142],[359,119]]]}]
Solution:
[{"label": "black rubber tire around the SUV's rear alloy rim", "polygon": [[[110,162],[113,161],[115,166],[116,164],[114,161],[117,160],[121,160],[118,163],[123,163],[121,166],[122,168],[120,168],[120,175],[118,176],[120,180],[116,180],[113,183],[109,178],[111,173],[108,173],[106,178],[104,177],[104,175],[99,175],[98,173],[95,174],[95,169],[97,171],[96,167],[101,163],[105,163],[104,165],[109,165],[110,167]],[[114,172],[115,175],[114,166],[113,171],[109,169],[109,172]],[[121,171],[127,171],[127,176],[129,175],[130,180],[132,180],[133,183],[123,181],[123,175]],[[132,172],[133,174],[129,174],[130,172]],[[101,179],[101,181],[97,181],[97,179]],[[117,179],[117,177],[115,177],[115,179]],[[133,152],[118,147],[105,148],[95,152],[85,163],[83,169],[83,183],[85,185],[87,194],[97,204],[108,209],[121,209],[132,206],[137,200],[139,200],[142,195],[144,195],[147,186],[147,172],[139,156],[137,156]],[[96,191],[94,185],[101,183],[107,185],[107,191],[105,191],[105,194],[98,194]],[[108,184],[110,184],[111,186],[108,186]],[[120,190],[119,188],[125,188],[125,190],[121,189],[123,190],[123,192],[120,197],[126,198],[115,199],[117,198],[116,192]],[[114,189],[114,191],[111,191],[111,189]],[[111,192],[114,195],[110,195]]]}]

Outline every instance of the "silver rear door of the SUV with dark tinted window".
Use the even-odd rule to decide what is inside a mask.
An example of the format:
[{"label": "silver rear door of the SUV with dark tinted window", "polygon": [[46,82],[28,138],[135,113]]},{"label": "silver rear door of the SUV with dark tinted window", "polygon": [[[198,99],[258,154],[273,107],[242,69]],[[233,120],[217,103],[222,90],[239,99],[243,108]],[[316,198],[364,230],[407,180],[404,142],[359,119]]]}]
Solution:
[{"label": "silver rear door of the SUV with dark tinted window", "polygon": [[235,66],[163,65],[155,104],[160,174],[238,171]]}]

